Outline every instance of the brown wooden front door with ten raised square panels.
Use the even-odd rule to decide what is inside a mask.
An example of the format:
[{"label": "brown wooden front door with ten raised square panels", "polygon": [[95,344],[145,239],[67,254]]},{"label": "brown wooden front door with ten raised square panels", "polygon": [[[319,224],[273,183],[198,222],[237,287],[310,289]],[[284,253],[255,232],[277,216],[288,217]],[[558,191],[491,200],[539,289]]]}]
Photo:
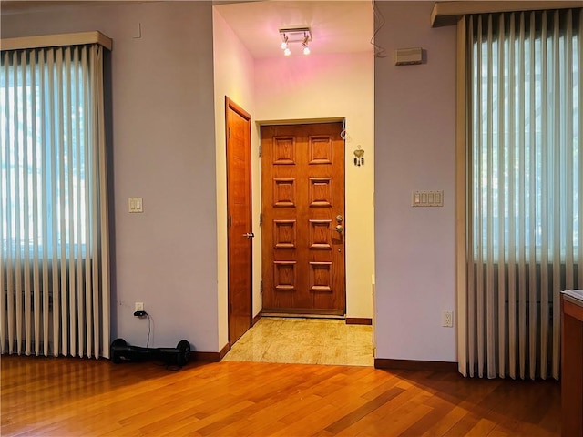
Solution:
[{"label": "brown wooden front door with ten raised square panels", "polygon": [[263,312],[345,312],[342,123],[261,127]]}]

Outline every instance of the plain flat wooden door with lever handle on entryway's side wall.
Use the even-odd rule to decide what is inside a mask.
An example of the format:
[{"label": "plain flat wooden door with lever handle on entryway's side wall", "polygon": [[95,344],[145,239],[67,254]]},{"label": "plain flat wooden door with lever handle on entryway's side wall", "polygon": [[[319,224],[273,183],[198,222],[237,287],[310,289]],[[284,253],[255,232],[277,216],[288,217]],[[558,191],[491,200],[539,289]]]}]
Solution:
[{"label": "plain flat wooden door with lever handle on entryway's side wall", "polygon": [[251,328],[251,116],[225,99],[227,136],[227,245],[229,343]]}]

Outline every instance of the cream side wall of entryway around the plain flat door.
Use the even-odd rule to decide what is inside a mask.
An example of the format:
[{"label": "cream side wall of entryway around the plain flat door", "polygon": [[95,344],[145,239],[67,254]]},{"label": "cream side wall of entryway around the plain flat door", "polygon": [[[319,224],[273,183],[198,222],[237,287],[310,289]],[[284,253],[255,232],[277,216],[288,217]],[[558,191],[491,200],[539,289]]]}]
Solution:
[{"label": "cream side wall of entryway around the plain flat door", "polygon": [[[233,33],[230,26],[213,8],[214,33],[214,77],[215,77],[215,137],[217,139],[217,229],[219,266],[219,347],[229,341],[228,304],[228,258],[227,258],[227,162],[225,138],[225,96],[245,109],[253,123],[255,97],[253,90],[253,58]],[[257,130],[251,125],[251,173],[253,186],[260,184]],[[253,197],[253,229],[259,229],[260,194],[255,190]],[[253,290],[259,294],[261,282],[261,240],[253,240]],[[259,259],[259,260],[258,260]],[[261,310],[261,299],[253,300],[253,315]]]}]

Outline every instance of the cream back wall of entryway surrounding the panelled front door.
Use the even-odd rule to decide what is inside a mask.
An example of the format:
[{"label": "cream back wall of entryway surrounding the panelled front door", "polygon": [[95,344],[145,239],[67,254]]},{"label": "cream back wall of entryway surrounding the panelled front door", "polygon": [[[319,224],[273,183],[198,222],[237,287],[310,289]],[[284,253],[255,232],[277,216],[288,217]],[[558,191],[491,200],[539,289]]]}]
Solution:
[{"label": "cream back wall of entryway surrounding the panelled front door", "polygon": [[[372,19],[372,13],[371,13]],[[346,119],[346,315],[373,317],[373,53],[280,56],[255,63],[256,119]],[[354,167],[353,150],[365,150]]]}]

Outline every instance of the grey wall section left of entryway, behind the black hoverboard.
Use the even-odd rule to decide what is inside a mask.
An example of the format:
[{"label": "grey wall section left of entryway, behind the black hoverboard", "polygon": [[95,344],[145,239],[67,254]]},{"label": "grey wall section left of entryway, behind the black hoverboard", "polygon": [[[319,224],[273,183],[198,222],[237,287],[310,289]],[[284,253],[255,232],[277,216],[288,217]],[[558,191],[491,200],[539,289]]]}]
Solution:
[{"label": "grey wall section left of entryway, behind the black hoverboard", "polygon": [[[99,30],[113,39],[112,337],[218,351],[212,5],[49,7],[2,15],[2,37]],[[138,25],[141,24],[141,37]],[[128,197],[144,198],[128,214]]]}]

